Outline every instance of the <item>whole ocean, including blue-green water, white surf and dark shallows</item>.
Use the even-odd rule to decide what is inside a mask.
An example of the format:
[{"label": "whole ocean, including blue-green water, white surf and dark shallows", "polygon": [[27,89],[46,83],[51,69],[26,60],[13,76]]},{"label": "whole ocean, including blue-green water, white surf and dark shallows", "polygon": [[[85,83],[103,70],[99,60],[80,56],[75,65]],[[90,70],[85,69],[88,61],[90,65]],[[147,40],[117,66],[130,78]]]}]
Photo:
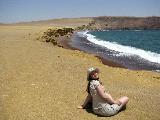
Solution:
[{"label": "whole ocean, including blue-green water, white surf and dark shallows", "polygon": [[160,30],[82,31],[71,46],[128,69],[160,71]]}]

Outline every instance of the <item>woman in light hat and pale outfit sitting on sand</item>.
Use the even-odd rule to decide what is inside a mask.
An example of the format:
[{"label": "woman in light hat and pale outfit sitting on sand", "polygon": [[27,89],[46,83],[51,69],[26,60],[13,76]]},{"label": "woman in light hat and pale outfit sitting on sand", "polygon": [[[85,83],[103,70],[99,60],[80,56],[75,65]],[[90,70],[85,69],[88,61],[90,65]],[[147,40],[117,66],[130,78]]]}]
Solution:
[{"label": "woman in light hat and pale outfit sitting on sand", "polygon": [[93,112],[100,116],[112,116],[117,114],[120,110],[125,108],[128,97],[121,97],[118,100],[114,100],[112,96],[106,93],[104,86],[99,80],[99,69],[88,69],[88,96],[83,105],[78,108],[84,109],[88,103],[92,102]]}]

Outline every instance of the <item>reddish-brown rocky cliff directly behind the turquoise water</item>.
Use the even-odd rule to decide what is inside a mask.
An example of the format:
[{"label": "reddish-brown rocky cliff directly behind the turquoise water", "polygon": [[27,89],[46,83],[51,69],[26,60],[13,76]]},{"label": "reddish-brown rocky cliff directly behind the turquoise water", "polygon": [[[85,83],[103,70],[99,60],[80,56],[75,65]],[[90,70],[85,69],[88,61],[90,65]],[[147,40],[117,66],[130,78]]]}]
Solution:
[{"label": "reddish-brown rocky cliff directly behind the turquoise water", "polygon": [[95,29],[159,29],[160,17],[94,17]]}]

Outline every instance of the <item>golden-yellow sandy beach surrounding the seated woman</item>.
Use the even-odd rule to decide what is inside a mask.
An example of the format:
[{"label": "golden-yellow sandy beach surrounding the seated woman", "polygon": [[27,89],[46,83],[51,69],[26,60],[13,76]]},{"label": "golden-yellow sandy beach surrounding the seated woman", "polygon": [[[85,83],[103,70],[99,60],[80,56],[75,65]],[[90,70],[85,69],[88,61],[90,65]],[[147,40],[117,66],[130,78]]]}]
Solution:
[{"label": "golden-yellow sandy beach surrounding the seated woman", "polygon": [[[94,55],[38,41],[47,29],[0,26],[0,120],[160,119],[159,73],[109,67]],[[130,98],[125,111],[106,118],[77,109],[86,96],[89,67],[100,69],[114,98]]]}]

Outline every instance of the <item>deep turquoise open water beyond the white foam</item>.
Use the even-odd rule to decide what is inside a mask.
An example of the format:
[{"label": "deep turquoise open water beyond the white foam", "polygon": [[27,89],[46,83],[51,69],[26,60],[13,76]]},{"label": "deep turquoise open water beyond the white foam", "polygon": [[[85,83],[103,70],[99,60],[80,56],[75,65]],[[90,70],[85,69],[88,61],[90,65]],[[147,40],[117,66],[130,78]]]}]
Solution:
[{"label": "deep turquoise open water beyond the white foam", "polygon": [[160,54],[160,30],[111,30],[90,33],[104,41]]}]

